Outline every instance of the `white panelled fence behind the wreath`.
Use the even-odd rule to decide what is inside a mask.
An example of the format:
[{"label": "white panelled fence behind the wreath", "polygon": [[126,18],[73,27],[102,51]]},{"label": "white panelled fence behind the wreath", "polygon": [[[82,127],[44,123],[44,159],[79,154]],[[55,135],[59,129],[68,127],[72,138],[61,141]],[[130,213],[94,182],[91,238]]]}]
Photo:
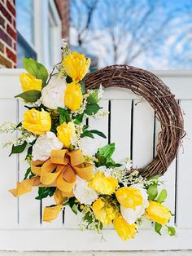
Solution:
[{"label": "white panelled fence behind the wreath", "polygon": [[[14,95],[20,93],[19,75],[23,70],[0,69],[0,123],[21,121],[24,105]],[[192,249],[192,72],[155,72],[181,105],[185,114],[185,131],[181,150],[164,175],[168,190],[166,205],[175,216],[172,225],[177,227],[177,236],[158,236],[149,224],[144,223],[136,238],[121,241],[116,232],[107,228],[101,236],[78,229],[80,217],[69,209],[60,213],[53,223],[41,223],[41,213],[54,201],[34,199],[37,188],[20,198],[7,192],[23,179],[28,165],[24,154],[8,157],[10,149],[0,148],[0,250],[162,250]],[[132,157],[133,166],[144,166],[155,156],[159,123],[151,106],[129,90],[108,89],[103,97],[103,108],[109,109],[109,117],[89,120],[89,126],[102,130],[108,142],[116,143],[116,161]],[[14,135],[11,136],[12,138]],[[1,144],[7,138],[1,136]]]}]

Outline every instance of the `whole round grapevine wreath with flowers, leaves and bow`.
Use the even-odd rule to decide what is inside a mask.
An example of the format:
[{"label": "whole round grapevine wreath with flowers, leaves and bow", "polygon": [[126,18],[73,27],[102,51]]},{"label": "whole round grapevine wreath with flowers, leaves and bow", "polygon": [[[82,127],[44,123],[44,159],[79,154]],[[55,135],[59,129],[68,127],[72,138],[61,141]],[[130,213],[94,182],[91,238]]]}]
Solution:
[{"label": "whole round grapevine wreath with flowers, leaves and bow", "polygon": [[[159,176],[176,157],[184,136],[183,117],[174,95],[146,70],[114,65],[93,71],[90,60],[67,45],[62,54],[63,60],[55,64],[50,76],[42,64],[24,58],[27,73],[20,74],[23,92],[15,96],[23,99],[27,108],[24,120],[0,126],[2,133],[16,132],[15,139],[4,145],[11,145],[11,154],[26,150],[29,164],[24,179],[10,192],[21,196],[37,187],[36,200],[53,196],[54,205],[44,209],[46,222],[57,218],[68,205],[81,214],[82,230],[100,233],[112,224],[126,241],[146,219],[155,223],[155,232],[161,234],[164,227],[174,236],[174,227],[168,225],[172,214],[163,205],[167,192],[159,190]],[[132,90],[155,110],[161,132],[157,155],[145,168],[134,168],[129,158],[123,163],[114,161],[115,143],[102,147],[99,137],[106,138],[103,132],[85,125],[89,117],[107,116],[99,101],[103,88],[108,87]]]}]

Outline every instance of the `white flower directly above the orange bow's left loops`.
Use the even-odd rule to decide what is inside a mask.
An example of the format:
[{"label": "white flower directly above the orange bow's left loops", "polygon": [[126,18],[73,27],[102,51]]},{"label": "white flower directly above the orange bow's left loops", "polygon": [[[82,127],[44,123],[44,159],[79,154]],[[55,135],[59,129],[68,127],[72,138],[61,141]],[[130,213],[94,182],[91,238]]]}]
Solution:
[{"label": "white flower directly above the orange bow's left loops", "polygon": [[55,133],[48,131],[45,135],[40,135],[33,145],[33,161],[45,161],[50,157],[50,152],[54,149],[63,148],[63,143],[59,141]]}]

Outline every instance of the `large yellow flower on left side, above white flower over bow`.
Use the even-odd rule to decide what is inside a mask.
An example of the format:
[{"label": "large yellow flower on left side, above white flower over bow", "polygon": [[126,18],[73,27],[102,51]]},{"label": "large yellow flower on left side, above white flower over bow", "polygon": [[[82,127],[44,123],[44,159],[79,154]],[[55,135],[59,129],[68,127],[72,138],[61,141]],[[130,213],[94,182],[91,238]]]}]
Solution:
[{"label": "large yellow flower on left side, above white flower over bow", "polygon": [[42,135],[50,130],[50,114],[43,109],[37,111],[35,108],[32,108],[24,113],[22,126],[26,130],[33,132],[34,135]]}]

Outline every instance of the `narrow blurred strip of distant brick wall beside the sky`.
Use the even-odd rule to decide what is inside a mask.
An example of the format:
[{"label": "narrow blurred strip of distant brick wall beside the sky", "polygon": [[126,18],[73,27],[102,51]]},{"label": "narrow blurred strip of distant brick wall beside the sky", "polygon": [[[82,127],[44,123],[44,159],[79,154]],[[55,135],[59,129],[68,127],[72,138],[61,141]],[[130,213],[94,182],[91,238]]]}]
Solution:
[{"label": "narrow blurred strip of distant brick wall beside the sky", "polygon": [[62,38],[67,39],[69,42],[70,0],[55,0],[55,3],[62,21]]}]

